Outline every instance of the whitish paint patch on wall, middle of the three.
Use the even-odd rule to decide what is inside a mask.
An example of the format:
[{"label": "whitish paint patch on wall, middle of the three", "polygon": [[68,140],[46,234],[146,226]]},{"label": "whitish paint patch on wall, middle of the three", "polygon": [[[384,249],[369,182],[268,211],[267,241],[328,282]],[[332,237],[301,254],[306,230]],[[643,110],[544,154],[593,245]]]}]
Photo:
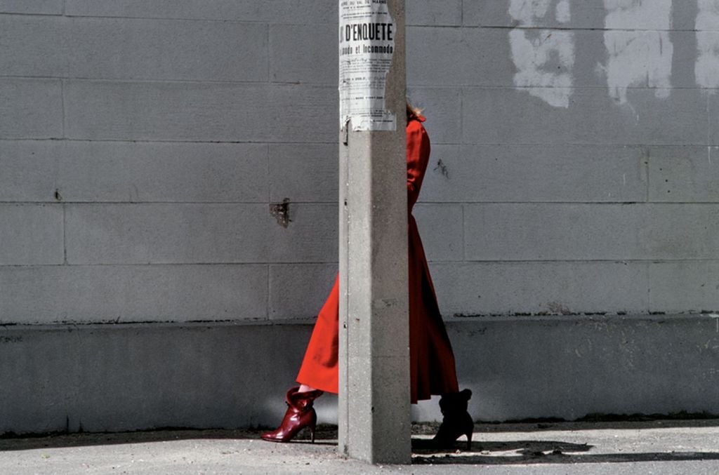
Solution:
[{"label": "whitish paint patch on wall, middle of the three", "polygon": [[603,69],[609,95],[626,103],[629,87],[644,86],[656,88],[656,97],[669,97],[672,0],[604,0],[604,6],[608,60]]}]

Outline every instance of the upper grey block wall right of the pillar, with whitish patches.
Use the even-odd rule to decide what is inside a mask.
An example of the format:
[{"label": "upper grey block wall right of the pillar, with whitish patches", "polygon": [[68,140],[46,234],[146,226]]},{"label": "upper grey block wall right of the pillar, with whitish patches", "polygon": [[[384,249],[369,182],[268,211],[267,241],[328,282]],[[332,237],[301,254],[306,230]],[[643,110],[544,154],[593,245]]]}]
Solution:
[{"label": "upper grey block wall right of the pillar, with whitish patches", "polygon": [[719,309],[718,6],[408,1],[446,315]]}]

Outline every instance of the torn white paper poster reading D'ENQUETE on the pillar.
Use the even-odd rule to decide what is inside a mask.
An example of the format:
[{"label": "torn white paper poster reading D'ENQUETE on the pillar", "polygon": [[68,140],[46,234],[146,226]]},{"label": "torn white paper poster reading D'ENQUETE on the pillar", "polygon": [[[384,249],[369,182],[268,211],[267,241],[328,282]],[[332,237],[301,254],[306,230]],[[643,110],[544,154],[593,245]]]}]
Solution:
[{"label": "torn white paper poster reading D'ENQUETE on the pillar", "polygon": [[339,120],[352,130],[397,129],[385,109],[385,85],[395,50],[387,0],[339,2]]}]

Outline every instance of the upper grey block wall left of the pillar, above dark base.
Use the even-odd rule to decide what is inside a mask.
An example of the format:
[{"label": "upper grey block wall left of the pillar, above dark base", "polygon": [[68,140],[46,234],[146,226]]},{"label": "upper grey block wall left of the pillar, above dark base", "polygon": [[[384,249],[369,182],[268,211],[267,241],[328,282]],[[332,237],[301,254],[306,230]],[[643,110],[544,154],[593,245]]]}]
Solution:
[{"label": "upper grey block wall left of the pillar, above dark base", "polygon": [[0,323],[311,318],[336,267],[334,22],[0,2]]}]

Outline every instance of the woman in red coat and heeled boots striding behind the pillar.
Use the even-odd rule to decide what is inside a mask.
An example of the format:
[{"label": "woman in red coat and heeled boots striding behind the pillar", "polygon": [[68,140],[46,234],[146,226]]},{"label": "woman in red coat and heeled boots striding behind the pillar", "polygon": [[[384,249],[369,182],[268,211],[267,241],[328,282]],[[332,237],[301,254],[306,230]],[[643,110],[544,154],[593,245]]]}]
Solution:
[{"label": "woman in red coat and heeled boots striding behind the pillar", "polygon": [[[459,392],[454,354],[439,313],[427,259],[419,237],[412,208],[417,202],[429,162],[429,136],[424,117],[407,104],[407,201],[409,249],[409,348],[411,401],[443,395],[440,401],[444,420],[434,438],[437,445],[448,446],[462,434],[472,437],[472,418],[467,414],[469,389]],[[277,430],[262,434],[266,441],[288,442],[308,427],[314,441],[317,416],[313,400],[323,392],[338,392],[339,277],[324,303],[312,332],[297,376],[299,387],[287,393],[289,406]],[[457,406],[457,407],[454,407]]]}]

